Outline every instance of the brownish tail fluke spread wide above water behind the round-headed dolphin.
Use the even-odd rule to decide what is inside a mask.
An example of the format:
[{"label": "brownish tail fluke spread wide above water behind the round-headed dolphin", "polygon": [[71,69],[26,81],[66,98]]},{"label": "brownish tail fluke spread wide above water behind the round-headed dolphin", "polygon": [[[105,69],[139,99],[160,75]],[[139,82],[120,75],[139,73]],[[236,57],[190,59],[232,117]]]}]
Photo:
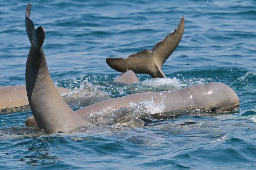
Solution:
[{"label": "brownish tail fluke spread wide above water behind the round-headed dolphin", "polygon": [[107,58],[107,64],[118,72],[132,70],[135,73],[149,74],[153,78],[166,77],[162,72],[162,65],[165,60],[173,53],[181,41],[184,32],[184,17],[178,28],[170,33],[164,40],[158,42],[153,50],[143,50],[124,58]]}]

